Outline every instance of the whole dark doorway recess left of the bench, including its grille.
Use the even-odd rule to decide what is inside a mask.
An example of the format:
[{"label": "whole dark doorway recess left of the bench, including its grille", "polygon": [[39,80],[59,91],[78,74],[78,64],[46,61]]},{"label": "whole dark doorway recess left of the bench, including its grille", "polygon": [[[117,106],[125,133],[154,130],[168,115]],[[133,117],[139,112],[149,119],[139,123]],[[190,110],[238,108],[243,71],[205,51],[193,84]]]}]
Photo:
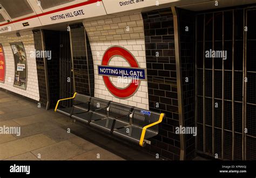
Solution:
[{"label": "whole dark doorway recess left of the bench, including its grille", "polygon": [[[51,59],[47,61],[49,81],[49,109],[55,108],[60,98],[73,95],[73,77],[69,33],[65,31],[43,30],[46,51],[51,51]],[[60,102],[69,107],[72,101]]]}]

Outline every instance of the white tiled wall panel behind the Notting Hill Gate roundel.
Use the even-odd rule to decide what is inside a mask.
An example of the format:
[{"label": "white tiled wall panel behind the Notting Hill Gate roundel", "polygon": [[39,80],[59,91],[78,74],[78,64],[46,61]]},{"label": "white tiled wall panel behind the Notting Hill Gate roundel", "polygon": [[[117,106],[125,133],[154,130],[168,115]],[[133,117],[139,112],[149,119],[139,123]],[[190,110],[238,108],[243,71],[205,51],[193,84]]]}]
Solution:
[{"label": "white tiled wall panel behind the Notting Hill Gate roundel", "polygon": [[[121,46],[130,51],[138,61],[140,68],[146,68],[145,38],[143,18],[141,13],[127,16],[111,16],[106,19],[84,22],[92,49],[95,69],[95,97],[111,100],[118,103],[149,109],[147,82],[141,81],[137,92],[130,98],[120,99],[113,96],[105,87],[103,77],[98,75],[98,65],[102,64],[103,54],[111,46]],[[127,31],[129,27],[129,31]],[[97,55],[98,54],[98,55]],[[111,66],[129,67],[125,59],[114,57]],[[117,77],[110,77],[117,87],[125,87],[125,83],[117,83]]]}]

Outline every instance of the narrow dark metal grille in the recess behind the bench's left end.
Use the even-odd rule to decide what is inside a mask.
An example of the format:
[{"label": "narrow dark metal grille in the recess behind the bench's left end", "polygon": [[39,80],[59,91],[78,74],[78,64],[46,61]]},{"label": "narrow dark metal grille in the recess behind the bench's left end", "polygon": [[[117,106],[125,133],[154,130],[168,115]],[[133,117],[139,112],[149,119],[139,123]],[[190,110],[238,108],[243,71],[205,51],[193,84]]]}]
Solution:
[{"label": "narrow dark metal grille in the recess behind the bench's left end", "polygon": [[[60,50],[59,50],[59,81],[60,98],[69,98],[73,95],[73,74],[71,61],[70,37],[68,32],[60,32]],[[66,107],[72,106],[72,99],[60,102],[60,105]]]}]

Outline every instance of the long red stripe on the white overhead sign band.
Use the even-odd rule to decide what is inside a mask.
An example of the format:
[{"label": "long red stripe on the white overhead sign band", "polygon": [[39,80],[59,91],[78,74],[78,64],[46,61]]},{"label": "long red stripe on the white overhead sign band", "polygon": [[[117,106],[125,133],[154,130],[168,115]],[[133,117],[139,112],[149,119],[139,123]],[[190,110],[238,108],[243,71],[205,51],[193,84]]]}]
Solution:
[{"label": "long red stripe on the white overhead sign band", "polygon": [[33,16],[21,18],[21,19],[18,19],[18,20],[14,20],[14,21],[11,21],[11,22],[8,22],[8,23],[1,24],[0,26],[4,26],[4,25],[16,23],[16,22],[21,22],[21,21],[23,21],[23,20],[28,20],[28,19],[31,19],[31,18],[36,18],[36,17],[40,17],[40,16],[45,16],[45,15],[48,15],[48,14],[50,14],[50,13],[55,13],[55,12],[59,12],[59,11],[64,11],[64,10],[68,10],[68,9],[73,9],[73,8],[77,8],[77,7],[80,7],[80,6],[83,6],[83,5],[88,5],[88,4],[97,3],[97,2],[101,2],[101,1],[102,1],[102,0],[90,0],[90,1],[83,2],[83,3],[79,3],[79,4],[74,4],[74,5],[66,6],[66,7],[64,7],[64,8],[55,9],[55,10],[52,10],[52,11],[49,11],[49,12],[39,13],[38,15],[33,15]]}]

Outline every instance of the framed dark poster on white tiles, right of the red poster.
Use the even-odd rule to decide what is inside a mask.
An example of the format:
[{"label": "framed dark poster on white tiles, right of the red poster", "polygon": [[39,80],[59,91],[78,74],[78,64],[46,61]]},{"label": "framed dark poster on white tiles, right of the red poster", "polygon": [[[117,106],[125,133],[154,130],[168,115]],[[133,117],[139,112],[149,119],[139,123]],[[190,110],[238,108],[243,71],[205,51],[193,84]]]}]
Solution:
[{"label": "framed dark poster on white tiles, right of the red poster", "polygon": [[28,74],[25,49],[22,42],[12,42],[10,45],[14,53],[15,63],[14,87],[25,90]]}]

